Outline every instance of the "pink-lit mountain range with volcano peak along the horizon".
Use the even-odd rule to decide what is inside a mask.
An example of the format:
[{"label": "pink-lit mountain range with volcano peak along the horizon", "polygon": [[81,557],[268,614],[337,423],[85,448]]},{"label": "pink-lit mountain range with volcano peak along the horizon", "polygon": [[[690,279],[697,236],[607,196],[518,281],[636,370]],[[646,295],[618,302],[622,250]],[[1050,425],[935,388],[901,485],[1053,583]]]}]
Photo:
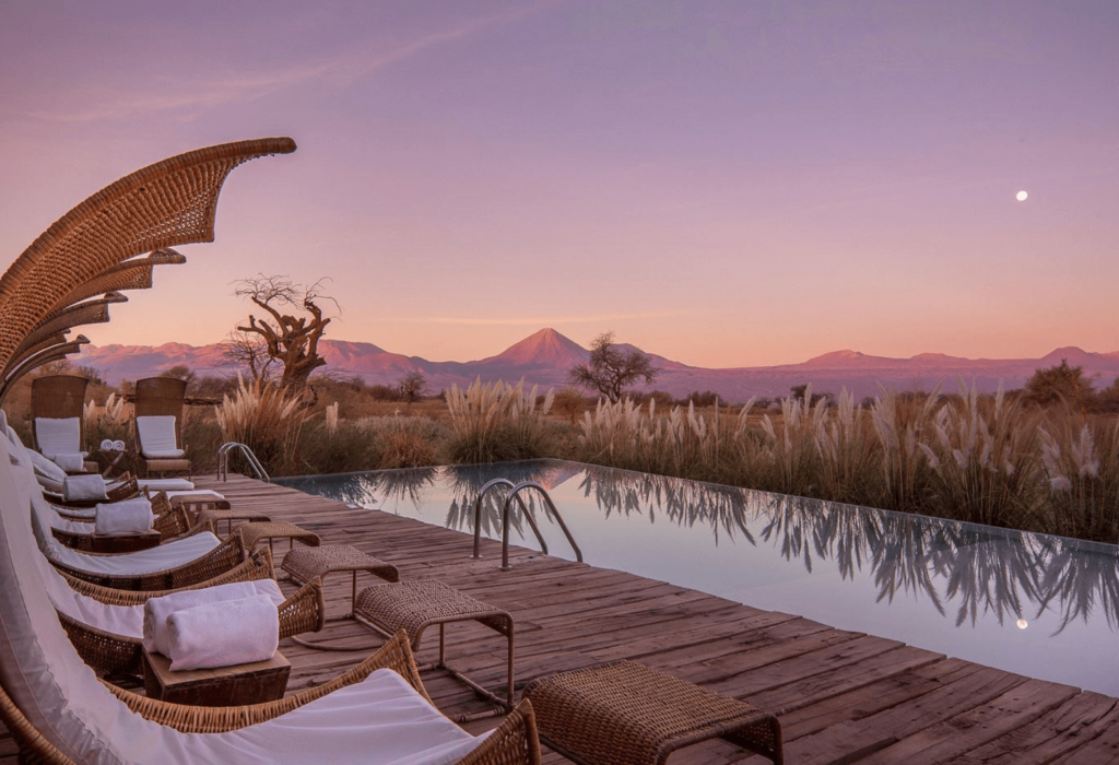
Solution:
[{"label": "pink-lit mountain range with volcano peak along the horizon", "polygon": [[[497,356],[477,361],[429,361],[419,356],[393,353],[369,342],[346,340],[322,340],[319,350],[327,360],[325,369],[333,375],[360,377],[368,385],[395,386],[406,374],[419,371],[432,391],[450,388],[452,384],[461,388],[479,377],[509,382],[524,379],[545,389],[558,388],[566,385],[567,371],[590,357],[587,349],[553,329],[543,329]],[[856,399],[875,395],[880,384],[897,390],[931,390],[943,381],[946,390],[956,391],[958,378],[990,393],[999,382],[1007,389],[1021,388],[1035,370],[1059,365],[1062,359],[1083,367],[1085,375],[1096,378],[1097,387],[1110,385],[1119,375],[1119,351],[1093,353],[1075,347],[1057,348],[1038,359],[967,359],[943,353],[894,359],[841,350],[801,363],[735,369],[692,367],[646,352],[660,372],[652,385],[639,389],[666,390],[676,397],[713,390],[728,402],[743,402],[750,396],[784,396],[791,386],[805,382],[811,382],[817,391],[835,394],[846,387]],[[236,372],[223,358],[218,344],[87,346],[74,362],[96,369],[110,382],[151,377],[179,365],[199,376]]]}]

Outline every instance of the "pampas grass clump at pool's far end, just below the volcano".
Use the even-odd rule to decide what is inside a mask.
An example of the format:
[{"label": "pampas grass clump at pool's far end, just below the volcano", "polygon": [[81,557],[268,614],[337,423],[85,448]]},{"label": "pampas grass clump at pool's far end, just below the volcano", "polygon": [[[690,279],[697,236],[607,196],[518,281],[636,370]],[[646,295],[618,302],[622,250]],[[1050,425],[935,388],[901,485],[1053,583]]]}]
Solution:
[{"label": "pampas grass clump at pool's far end, just below the volcano", "polygon": [[524,381],[486,382],[478,379],[446,395],[451,415],[448,455],[452,462],[506,462],[549,455],[552,431],[545,417],[552,408],[552,391],[537,405],[536,387],[525,391]]}]

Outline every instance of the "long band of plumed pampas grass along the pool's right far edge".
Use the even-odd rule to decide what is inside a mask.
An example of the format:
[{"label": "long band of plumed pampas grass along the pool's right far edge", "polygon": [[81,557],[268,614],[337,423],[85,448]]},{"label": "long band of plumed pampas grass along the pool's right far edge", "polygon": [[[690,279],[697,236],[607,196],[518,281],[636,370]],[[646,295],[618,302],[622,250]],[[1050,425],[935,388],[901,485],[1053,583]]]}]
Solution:
[{"label": "long band of plumed pampas grass along the pool's right far edge", "polygon": [[749,424],[716,404],[658,412],[600,402],[580,423],[585,462],[977,523],[1119,541],[1119,421],[1027,410],[1002,391],[882,389],[869,410],[786,399]]}]

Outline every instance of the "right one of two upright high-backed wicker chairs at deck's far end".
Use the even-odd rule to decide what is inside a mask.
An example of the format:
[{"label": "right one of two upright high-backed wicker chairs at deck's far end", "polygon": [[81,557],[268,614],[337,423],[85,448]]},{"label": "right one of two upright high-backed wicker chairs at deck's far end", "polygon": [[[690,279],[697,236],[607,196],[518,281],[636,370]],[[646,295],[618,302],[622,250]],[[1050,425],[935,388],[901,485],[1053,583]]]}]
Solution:
[{"label": "right one of two upright high-backed wicker chairs at deck's far end", "polygon": [[190,472],[182,444],[182,402],[187,384],[173,377],[137,380],[132,419],[140,469],[150,473]]}]

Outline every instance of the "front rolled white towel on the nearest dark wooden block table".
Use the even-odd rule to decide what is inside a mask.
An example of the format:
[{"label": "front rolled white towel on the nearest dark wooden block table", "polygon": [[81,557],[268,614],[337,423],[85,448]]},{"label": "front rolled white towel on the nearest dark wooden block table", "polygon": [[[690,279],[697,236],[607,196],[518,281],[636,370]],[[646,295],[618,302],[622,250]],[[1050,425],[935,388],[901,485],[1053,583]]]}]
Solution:
[{"label": "front rolled white towel on the nearest dark wooden block table", "polygon": [[280,644],[280,612],[266,595],[207,603],[167,618],[171,671],[265,661]]}]

